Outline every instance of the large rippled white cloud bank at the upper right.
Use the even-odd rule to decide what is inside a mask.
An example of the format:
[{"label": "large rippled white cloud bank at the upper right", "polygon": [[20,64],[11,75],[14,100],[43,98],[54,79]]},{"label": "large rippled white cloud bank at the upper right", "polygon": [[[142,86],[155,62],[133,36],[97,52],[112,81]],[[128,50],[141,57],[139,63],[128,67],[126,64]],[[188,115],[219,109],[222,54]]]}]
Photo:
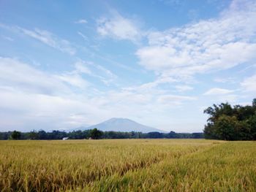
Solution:
[{"label": "large rippled white cloud bank at the upper right", "polygon": [[[256,58],[256,3],[233,3],[217,19],[148,33],[139,64],[170,77],[230,69]],[[238,5],[237,5],[238,6]],[[241,5],[240,5],[241,6]]]}]

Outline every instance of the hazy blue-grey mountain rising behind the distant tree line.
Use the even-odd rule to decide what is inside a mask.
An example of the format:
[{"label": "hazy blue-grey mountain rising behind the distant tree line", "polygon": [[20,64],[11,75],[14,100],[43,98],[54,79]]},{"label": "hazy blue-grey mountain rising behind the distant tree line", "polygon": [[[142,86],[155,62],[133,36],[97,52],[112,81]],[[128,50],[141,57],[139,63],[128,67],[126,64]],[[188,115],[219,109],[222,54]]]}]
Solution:
[{"label": "hazy blue-grey mountain rising behind the distant tree line", "polygon": [[134,120],[129,120],[127,118],[111,118],[97,125],[89,126],[85,129],[92,129],[92,128],[98,128],[101,131],[121,131],[121,132],[138,131],[143,133],[148,133],[153,131],[165,132],[157,128],[144,126],[140,123],[135,122]]}]

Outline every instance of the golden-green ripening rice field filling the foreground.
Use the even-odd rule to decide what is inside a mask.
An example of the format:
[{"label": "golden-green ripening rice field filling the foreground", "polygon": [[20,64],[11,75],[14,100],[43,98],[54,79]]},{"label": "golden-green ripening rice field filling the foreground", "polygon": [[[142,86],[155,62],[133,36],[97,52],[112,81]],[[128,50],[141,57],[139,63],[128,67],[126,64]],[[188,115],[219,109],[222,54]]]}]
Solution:
[{"label": "golden-green ripening rice field filling the foreground", "polygon": [[0,141],[1,191],[256,191],[256,142]]}]

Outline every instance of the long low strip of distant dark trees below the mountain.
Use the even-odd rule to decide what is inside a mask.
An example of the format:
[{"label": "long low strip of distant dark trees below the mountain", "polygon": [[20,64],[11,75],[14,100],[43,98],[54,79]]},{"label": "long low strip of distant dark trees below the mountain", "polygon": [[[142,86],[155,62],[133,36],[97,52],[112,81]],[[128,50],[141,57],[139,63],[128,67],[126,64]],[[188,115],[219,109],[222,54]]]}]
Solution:
[{"label": "long low strip of distant dark trees below the mountain", "polygon": [[69,139],[202,139],[203,133],[176,133],[170,131],[170,133],[159,133],[159,132],[119,132],[119,131],[100,131],[97,128],[84,131],[51,131],[46,132],[40,131],[30,131],[30,132],[20,132],[20,131],[8,131],[0,132],[0,139],[63,139],[68,137]]}]

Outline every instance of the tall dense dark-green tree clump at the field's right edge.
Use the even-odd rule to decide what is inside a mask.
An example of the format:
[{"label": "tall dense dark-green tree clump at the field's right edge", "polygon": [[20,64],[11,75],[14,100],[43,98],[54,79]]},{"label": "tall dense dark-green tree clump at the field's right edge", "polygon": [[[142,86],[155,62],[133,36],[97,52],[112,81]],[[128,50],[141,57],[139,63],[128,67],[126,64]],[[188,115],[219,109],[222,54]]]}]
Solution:
[{"label": "tall dense dark-green tree clump at the field's right edge", "polygon": [[209,115],[203,131],[206,139],[256,140],[256,99],[246,106],[214,104],[204,112]]}]

